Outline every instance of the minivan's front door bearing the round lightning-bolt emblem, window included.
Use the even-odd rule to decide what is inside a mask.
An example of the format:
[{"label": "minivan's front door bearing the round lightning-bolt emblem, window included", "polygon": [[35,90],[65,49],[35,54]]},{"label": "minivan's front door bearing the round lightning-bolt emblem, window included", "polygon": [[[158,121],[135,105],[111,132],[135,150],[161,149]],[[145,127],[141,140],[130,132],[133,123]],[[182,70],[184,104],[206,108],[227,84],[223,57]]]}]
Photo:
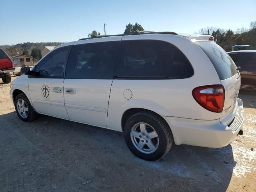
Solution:
[{"label": "minivan's front door bearing the round lightning-bolt emblem, window included", "polygon": [[69,119],[64,104],[64,66],[70,46],[57,48],[35,66],[30,78],[29,94],[37,112]]}]

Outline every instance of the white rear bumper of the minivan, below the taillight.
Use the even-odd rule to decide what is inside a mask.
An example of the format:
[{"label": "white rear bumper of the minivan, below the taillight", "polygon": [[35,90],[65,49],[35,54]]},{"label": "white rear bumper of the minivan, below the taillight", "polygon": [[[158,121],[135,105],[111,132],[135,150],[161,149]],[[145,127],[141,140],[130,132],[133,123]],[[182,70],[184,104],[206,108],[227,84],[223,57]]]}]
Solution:
[{"label": "white rear bumper of the minivan, below the taillight", "polygon": [[241,99],[237,99],[237,101],[236,116],[228,126],[222,124],[219,119],[193,120],[166,116],[163,118],[172,130],[175,144],[220,148],[230,144],[242,128],[244,122],[243,102]]}]

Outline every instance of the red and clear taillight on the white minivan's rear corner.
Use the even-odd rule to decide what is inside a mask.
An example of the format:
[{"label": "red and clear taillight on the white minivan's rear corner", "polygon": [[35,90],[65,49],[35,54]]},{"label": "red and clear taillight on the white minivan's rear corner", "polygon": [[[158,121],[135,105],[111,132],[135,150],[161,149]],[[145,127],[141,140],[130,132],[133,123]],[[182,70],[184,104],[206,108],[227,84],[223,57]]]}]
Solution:
[{"label": "red and clear taillight on the white minivan's rear corner", "polygon": [[197,87],[192,94],[203,108],[216,113],[222,112],[225,100],[225,89],[222,85]]}]

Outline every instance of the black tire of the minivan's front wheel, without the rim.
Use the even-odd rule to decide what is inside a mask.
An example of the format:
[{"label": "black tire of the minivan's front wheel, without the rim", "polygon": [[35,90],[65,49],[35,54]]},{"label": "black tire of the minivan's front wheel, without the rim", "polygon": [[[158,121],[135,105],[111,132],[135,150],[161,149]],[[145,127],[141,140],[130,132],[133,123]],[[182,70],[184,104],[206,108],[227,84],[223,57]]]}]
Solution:
[{"label": "black tire of the minivan's front wheel, without the rim", "polygon": [[[22,117],[18,112],[17,102],[19,99],[24,100],[24,102],[28,108],[28,114],[27,114],[26,118]],[[18,117],[20,118],[20,120],[25,121],[25,122],[30,122],[36,118],[36,112],[34,111],[33,107],[31,106],[28,98],[26,97],[26,95],[24,93],[20,93],[16,96],[16,98],[14,100],[14,106],[15,106],[16,113],[17,113]]]}]

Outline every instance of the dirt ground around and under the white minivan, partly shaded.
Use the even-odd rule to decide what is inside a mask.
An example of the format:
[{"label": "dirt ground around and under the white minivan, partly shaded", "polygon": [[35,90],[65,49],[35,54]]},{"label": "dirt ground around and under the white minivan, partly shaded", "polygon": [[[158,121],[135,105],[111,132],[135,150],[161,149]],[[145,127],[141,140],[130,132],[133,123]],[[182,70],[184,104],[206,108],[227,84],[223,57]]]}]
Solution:
[{"label": "dirt ground around and under the white minivan, partly shaded", "polygon": [[[15,77],[12,77],[15,79]],[[0,80],[1,192],[256,191],[256,93],[240,91],[244,135],[224,148],[173,144],[136,158],[122,133],[40,115],[22,122]]]}]

